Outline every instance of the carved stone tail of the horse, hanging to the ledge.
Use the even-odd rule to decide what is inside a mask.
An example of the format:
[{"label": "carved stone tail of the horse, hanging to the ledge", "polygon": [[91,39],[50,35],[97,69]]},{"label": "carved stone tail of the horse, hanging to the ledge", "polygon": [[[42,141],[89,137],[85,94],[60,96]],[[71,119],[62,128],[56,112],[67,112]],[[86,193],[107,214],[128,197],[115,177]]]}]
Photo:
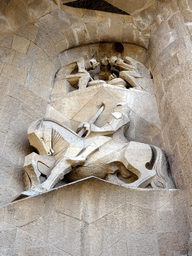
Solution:
[{"label": "carved stone tail of the horse, hanging to the ledge", "polygon": [[151,146],[153,152],[153,169],[156,172],[153,180],[151,181],[151,186],[153,188],[164,188],[170,189],[174,188],[174,184],[168,175],[168,165],[167,159],[163,151],[155,146]]}]

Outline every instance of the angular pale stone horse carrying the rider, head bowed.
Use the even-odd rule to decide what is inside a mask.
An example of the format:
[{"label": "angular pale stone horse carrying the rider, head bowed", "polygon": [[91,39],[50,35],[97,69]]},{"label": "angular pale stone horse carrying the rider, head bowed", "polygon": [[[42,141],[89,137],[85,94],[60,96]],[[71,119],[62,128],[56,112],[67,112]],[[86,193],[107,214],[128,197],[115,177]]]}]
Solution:
[{"label": "angular pale stone horse carrying the rider, head bowed", "polygon": [[[65,175],[69,181],[96,176],[126,187],[174,187],[160,148],[134,141],[118,141],[115,138],[117,132],[112,137],[90,133],[82,138],[53,119],[32,123],[28,139],[39,154],[32,153],[25,158],[24,170],[31,183],[29,195],[31,191],[50,190]],[[86,161],[73,166],[70,158],[83,154],[87,148],[91,150]],[[40,179],[42,175],[46,178],[44,182]]]}]

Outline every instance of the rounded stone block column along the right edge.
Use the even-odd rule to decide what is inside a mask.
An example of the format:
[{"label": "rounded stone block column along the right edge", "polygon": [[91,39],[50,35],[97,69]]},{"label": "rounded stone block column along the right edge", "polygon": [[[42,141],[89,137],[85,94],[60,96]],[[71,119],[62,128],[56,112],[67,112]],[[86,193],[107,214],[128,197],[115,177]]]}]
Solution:
[{"label": "rounded stone block column along the right edge", "polygon": [[[149,46],[149,68],[159,106],[164,148],[192,219],[191,1],[159,1]],[[163,139],[163,140],[162,140]],[[192,223],[191,223],[192,224]]]}]

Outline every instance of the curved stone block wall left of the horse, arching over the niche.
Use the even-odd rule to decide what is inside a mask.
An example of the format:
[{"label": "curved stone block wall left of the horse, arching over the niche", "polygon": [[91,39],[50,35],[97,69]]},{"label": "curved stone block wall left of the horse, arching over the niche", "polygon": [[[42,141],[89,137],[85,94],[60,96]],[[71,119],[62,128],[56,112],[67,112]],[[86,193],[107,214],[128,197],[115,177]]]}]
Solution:
[{"label": "curved stone block wall left of the horse, arching over the niche", "polygon": [[27,128],[45,114],[59,54],[98,42],[149,43],[132,16],[63,8],[51,0],[0,5],[0,205],[23,190],[24,157],[31,150]]}]

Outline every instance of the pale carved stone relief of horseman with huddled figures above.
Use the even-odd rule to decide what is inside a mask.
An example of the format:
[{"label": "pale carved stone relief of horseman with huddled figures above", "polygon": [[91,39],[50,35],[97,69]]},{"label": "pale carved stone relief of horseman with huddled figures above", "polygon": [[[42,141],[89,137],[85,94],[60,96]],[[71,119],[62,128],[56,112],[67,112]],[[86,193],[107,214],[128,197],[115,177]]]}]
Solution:
[{"label": "pale carved stone relief of horseman with huddled figures above", "polygon": [[28,129],[38,153],[25,157],[28,190],[22,194],[89,176],[125,187],[173,188],[162,150],[129,141],[132,112],[160,127],[151,75],[140,62],[92,57],[62,67],[46,116]]}]

